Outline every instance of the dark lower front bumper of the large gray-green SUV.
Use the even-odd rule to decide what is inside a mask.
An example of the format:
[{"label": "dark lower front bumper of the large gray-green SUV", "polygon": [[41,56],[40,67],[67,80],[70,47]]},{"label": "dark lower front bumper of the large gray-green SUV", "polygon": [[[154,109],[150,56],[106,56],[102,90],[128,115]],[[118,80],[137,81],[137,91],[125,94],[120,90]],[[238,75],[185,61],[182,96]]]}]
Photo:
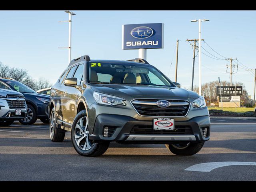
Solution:
[{"label": "dark lower front bumper of the large gray-green SUV", "polygon": [[[175,126],[190,127],[191,134],[131,134],[134,126],[153,127],[152,120],[138,120],[129,116],[116,114],[100,114],[97,116],[90,139],[96,141],[118,141],[118,142],[145,142],[145,143],[172,143],[172,142],[203,142],[210,139],[210,117],[198,116],[186,121],[175,121]],[[104,137],[104,128],[108,126],[114,130],[109,137]],[[204,137],[204,128],[207,135]],[[152,128],[153,129],[153,128]]]}]

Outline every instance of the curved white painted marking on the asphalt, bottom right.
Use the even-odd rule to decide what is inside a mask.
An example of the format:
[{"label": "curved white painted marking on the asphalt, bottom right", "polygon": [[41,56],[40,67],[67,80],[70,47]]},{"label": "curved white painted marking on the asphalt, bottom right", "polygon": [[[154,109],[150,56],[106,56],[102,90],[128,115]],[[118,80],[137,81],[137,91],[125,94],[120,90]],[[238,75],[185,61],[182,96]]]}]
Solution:
[{"label": "curved white painted marking on the asphalt, bottom right", "polygon": [[216,168],[231,166],[231,165],[255,165],[256,162],[240,162],[240,161],[227,161],[227,162],[210,162],[200,163],[190,166],[185,171],[199,171],[199,172],[210,172]]}]

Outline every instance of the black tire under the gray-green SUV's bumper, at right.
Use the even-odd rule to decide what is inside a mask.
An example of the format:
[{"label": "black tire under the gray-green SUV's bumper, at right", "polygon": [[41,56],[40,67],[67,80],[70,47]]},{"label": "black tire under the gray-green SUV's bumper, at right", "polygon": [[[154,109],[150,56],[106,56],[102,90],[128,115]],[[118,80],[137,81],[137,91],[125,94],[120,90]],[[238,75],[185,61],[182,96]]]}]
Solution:
[{"label": "black tire under the gray-green SUV's bumper, at right", "polygon": [[187,143],[187,144],[169,144],[166,147],[176,155],[194,155],[199,152],[204,146],[204,142],[199,143]]}]

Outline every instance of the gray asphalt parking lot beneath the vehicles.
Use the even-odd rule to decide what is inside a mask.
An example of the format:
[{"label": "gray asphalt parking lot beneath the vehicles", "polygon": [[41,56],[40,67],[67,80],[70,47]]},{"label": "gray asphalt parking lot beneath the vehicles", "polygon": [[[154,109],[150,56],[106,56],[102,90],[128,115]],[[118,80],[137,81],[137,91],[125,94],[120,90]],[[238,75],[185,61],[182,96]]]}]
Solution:
[{"label": "gray asphalt parking lot beneath the vehicles", "polygon": [[0,127],[0,180],[255,181],[256,118],[211,122],[210,141],[193,156],[176,156],[164,145],[112,143],[96,158],[78,155],[70,132],[57,143],[47,124],[15,122]]}]

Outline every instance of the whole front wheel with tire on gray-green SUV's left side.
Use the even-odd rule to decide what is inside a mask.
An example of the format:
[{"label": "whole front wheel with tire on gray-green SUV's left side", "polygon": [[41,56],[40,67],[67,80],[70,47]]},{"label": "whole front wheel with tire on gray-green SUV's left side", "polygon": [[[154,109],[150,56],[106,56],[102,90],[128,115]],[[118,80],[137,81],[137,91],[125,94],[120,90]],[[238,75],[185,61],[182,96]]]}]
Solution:
[{"label": "whole front wheel with tire on gray-green SUV's left side", "polygon": [[76,115],[72,125],[72,144],[76,152],[82,156],[96,157],[104,154],[110,142],[94,142],[94,140],[89,140],[88,135],[88,118],[86,110],[82,110]]}]

